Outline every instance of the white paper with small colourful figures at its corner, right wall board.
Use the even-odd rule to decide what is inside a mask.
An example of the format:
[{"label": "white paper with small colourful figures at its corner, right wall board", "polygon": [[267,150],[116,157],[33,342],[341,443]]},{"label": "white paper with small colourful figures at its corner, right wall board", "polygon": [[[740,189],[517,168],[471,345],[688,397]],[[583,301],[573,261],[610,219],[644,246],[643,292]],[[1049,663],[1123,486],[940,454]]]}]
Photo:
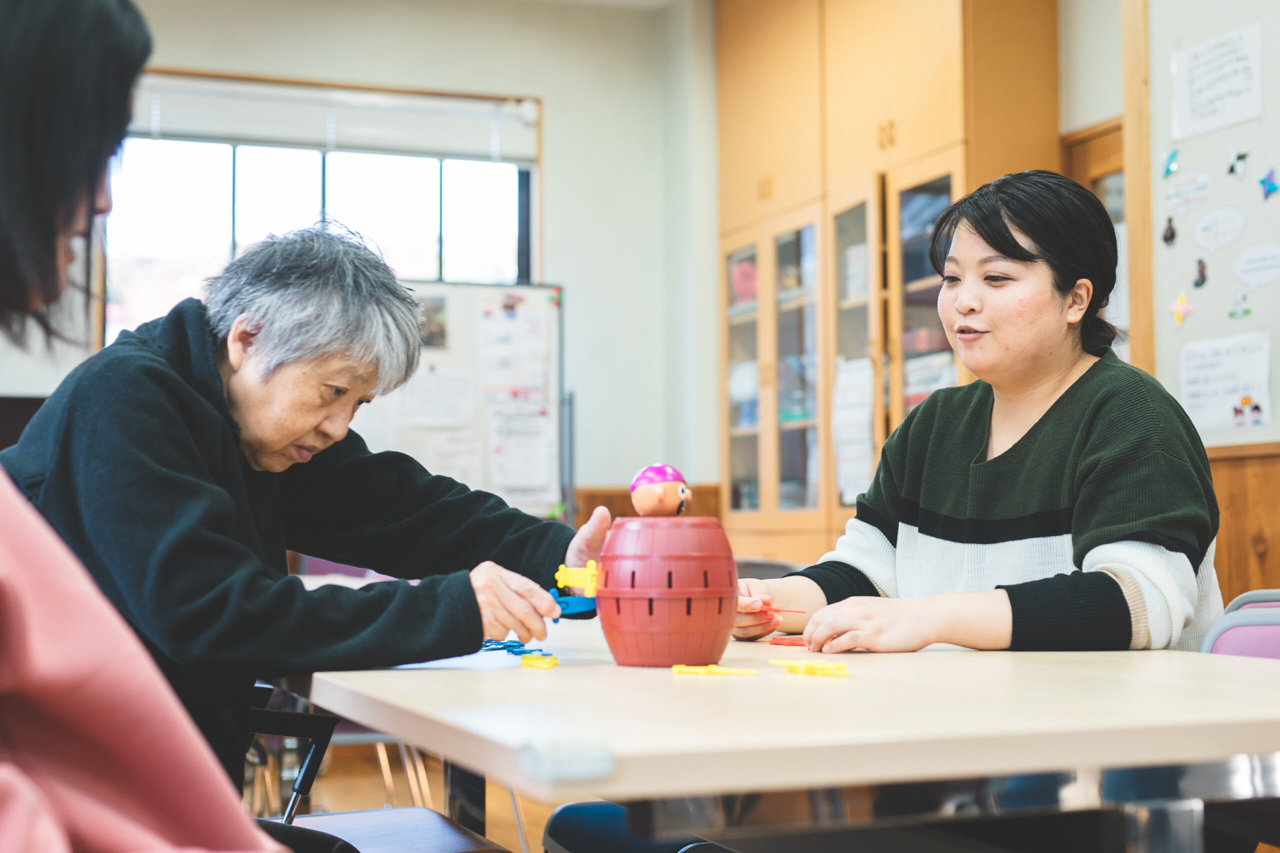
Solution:
[{"label": "white paper with small colourful figures at its corner, right wall board", "polygon": [[1183,344],[1181,403],[1201,432],[1271,422],[1271,333]]}]

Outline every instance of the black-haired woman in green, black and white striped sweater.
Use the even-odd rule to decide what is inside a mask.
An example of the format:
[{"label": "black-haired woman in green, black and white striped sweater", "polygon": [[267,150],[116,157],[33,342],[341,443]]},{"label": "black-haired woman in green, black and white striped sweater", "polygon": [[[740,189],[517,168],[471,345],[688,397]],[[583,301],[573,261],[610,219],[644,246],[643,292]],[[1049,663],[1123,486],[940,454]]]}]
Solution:
[{"label": "black-haired woman in green, black and white striped sweater", "polygon": [[1102,202],[1053,173],[1005,175],[942,214],[929,257],[938,316],[978,380],[908,413],[817,565],[740,581],[735,637],[1196,650],[1222,614],[1217,501],[1187,413],[1111,349]]}]

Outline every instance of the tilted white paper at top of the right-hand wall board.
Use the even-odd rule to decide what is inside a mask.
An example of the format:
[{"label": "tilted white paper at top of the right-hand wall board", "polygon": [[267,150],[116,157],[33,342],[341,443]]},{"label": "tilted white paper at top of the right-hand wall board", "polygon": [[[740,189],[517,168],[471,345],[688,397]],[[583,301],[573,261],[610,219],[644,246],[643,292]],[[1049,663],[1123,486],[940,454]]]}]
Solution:
[{"label": "tilted white paper at top of the right-hand wall board", "polygon": [[1262,115],[1262,26],[1233,29],[1174,54],[1172,138]]}]

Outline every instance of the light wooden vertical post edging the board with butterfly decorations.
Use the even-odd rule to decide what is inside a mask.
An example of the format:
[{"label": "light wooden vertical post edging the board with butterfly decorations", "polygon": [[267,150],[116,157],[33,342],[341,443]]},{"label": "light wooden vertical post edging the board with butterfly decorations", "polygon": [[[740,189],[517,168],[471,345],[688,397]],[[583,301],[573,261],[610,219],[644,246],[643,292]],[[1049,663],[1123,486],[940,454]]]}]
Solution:
[{"label": "light wooden vertical post edging the board with butterfly decorations", "polygon": [[1120,0],[1124,67],[1124,216],[1129,224],[1129,359],[1156,375],[1151,253],[1151,87],[1147,0]]}]

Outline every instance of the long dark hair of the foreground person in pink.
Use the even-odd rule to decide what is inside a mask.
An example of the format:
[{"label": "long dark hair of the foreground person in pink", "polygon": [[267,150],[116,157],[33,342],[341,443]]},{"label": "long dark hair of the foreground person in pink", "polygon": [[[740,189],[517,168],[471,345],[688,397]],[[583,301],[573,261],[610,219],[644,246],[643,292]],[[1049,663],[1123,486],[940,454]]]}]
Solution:
[{"label": "long dark hair of the foreground person in pink", "polygon": [[151,32],[131,0],[0,0],[0,331],[47,333],[58,237],[129,125]]}]

